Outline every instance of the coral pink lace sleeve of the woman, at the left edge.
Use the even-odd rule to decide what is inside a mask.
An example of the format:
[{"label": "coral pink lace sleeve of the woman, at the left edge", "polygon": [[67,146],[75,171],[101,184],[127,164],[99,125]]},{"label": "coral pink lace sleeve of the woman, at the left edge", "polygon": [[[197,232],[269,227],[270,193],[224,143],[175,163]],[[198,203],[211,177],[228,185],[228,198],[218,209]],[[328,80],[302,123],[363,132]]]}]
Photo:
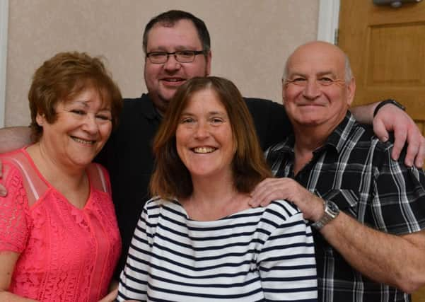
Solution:
[{"label": "coral pink lace sleeve of the woman, at the left edge", "polygon": [[3,183],[8,190],[0,197],[0,251],[22,252],[28,238],[28,199],[21,173],[4,162]]}]

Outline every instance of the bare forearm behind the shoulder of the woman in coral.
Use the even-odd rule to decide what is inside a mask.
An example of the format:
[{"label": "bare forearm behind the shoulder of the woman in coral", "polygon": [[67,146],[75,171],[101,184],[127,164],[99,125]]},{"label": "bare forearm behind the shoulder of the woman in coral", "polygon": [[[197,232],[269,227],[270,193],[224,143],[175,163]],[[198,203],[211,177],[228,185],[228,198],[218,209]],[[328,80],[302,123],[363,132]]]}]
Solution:
[{"label": "bare forearm behind the shoulder of the woman in coral", "polygon": [[31,143],[28,127],[8,127],[0,129],[0,153],[20,149]]}]

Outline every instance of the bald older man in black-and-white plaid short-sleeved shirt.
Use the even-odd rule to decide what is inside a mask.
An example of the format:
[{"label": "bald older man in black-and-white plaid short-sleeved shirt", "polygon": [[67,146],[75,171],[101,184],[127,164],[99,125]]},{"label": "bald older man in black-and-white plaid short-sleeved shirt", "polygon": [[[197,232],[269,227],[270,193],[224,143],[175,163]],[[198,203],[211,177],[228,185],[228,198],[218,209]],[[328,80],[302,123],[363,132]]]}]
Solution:
[{"label": "bald older man in black-and-white plaid short-sleeved shirt", "polygon": [[410,301],[425,284],[424,170],[392,160],[392,143],[354,120],[355,88],[338,47],[291,54],[283,100],[294,135],[267,150],[279,178],[252,199],[288,199],[312,221],[319,301]]}]

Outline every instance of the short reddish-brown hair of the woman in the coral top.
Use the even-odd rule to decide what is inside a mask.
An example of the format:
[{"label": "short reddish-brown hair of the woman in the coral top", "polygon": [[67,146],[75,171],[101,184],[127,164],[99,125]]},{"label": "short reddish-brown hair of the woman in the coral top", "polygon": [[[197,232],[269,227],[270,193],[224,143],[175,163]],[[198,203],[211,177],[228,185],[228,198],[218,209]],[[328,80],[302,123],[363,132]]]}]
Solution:
[{"label": "short reddish-brown hair of the woman in the coral top", "polygon": [[85,52],[59,52],[45,61],[35,71],[28,92],[33,141],[42,136],[42,127],[35,120],[37,114],[44,115],[52,124],[57,119],[57,104],[89,87],[97,89],[102,101],[110,105],[112,127],[115,127],[122,109],[122,96],[100,57],[90,57]]}]

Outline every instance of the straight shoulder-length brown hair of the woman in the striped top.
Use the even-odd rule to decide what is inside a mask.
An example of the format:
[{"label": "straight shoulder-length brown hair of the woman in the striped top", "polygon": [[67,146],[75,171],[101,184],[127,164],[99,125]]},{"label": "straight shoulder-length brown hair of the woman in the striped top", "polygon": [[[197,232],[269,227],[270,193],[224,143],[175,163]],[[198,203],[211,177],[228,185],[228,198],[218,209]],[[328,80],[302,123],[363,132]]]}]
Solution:
[{"label": "straight shoulder-length brown hair of the woman in the striped top", "polygon": [[254,122],[238,88],[231,81],[216,76],[195,77],[176,91],[153,142],[156,167],[151,178],[152,195],[172,199],[192,194],[192,178],[177,154],[175,132],[191,96],[205,89],[216,93],[231,123],[236,148],[232,161],[236,190],[251,192],[264,178],[272,177],[257,139]]}]

